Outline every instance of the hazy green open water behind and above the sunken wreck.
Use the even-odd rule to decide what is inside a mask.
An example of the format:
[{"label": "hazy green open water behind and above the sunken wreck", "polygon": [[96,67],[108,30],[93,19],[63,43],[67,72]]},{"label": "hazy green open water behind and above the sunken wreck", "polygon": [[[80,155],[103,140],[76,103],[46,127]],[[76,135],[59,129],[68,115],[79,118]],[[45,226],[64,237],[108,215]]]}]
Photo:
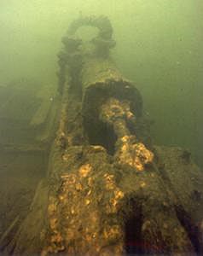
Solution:
[{"label": "hazy green open water behind and above the sunken wreck", "polygon": [[192,151],[203,165],[201,0],[1,0],[0,86],[57,84],[61,37],[78,15],[107,15],[113,58],[142,92],[154,143]]}]

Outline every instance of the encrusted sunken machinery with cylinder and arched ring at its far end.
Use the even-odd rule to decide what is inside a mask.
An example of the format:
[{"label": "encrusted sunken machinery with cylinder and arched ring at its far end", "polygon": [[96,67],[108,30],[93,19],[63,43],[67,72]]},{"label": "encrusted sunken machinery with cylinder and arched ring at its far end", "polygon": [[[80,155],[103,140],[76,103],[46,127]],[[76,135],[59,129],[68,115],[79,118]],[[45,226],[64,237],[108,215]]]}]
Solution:
[{"label": "encrusted sunken machinery with cylinder and arched ring at its far end", "polygon": [[[84,44],[81,26],[96,27],[96,38]],[[109,55],[110,21],[81,17],[62,43],[58,96],[34,114],[30,127],[41,130],[24,147],[49,155],[47,172],[24,218],[3,232],[2,252],[202,253],[203,174],[188,151],[152,143],[142,96]]]}]

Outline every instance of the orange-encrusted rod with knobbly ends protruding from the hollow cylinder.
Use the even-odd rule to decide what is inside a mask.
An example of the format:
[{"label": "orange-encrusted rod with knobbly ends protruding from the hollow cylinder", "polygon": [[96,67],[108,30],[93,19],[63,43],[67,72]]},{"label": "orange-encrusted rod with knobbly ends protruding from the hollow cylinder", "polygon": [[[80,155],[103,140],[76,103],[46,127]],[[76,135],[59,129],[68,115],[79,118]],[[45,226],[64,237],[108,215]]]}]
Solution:
[{"label": "orange-encrusted rod with knobbly ends protruding from the hollow cylinder", "polygon": [[136,136],[131,135],[127,127],[127,120],[136,119],[130,111],[129,102],[110,98],[102,105],[100,119],[113,126],[118,138],[115,156],[120,165],[127,164],[137,171],[143,171],[146,164],[152,163],[154,154],[143,143],[137,142]]}]

